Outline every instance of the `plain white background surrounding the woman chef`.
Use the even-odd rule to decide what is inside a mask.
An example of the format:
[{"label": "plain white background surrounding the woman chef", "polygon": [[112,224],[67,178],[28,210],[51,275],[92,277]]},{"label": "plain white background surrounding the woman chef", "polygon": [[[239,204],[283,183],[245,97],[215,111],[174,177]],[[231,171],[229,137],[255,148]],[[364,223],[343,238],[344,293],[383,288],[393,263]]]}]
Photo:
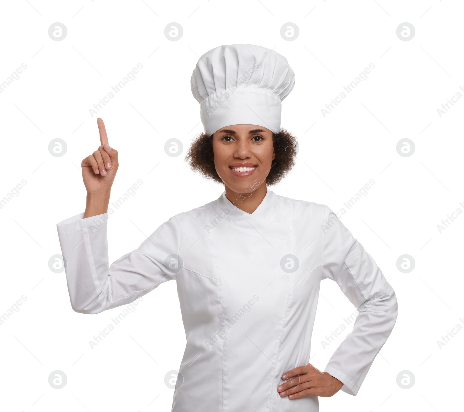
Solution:
[{"label": "plain white background surrounding the woman chef", "polygon": [[[202,131],[191,73],[203,53],[223,44],[273,49],[296,75],[282,127],[298,137],[300,151],[271,190],[338,211],[375,181],[342,222],[393,286],[399,316],[358,395],[320,398],[321,411],[462,408],[464,330],[441,348],[437,341],[464,318],[464,216],[441,233],[437,225],[464,210],[464,99],[441,117],[437,109],[464,86],[463,12],[451,0],[3,1],[0,82],[21,63],[27,68],[0,94],[0,198],[27,183],[0,209],[0,314],[26,296],[0,326],[0,409],[170,410],[164,376],[178,369],[185,346],[175,283],[144,296],[91,349],[123,308],[73,312],[64,272],[53,273],[48,261],[61,253],[56,223],[84,211],[80,163],[100,144],[89,109],[137,63],[143,69],[135,80],[98,113],[120,153],[111,201],[143,181],[110,217],[110,263],[169,217],[219,197],[223,188],[191,172],[184,155]],[[61,41],[48,35],[55,22],[67,27]],[[164,35],[171,22],[183,27],[178,41]],[[287,22],[299,27],[293,41],[280,35]],[[415,27],[409,41],[396,35],[403,22]],[[325,104],[369,63],[375,69],[367,80],[324,117]],[[184,152],[172,158],[164,144],[174,137]],[[48,151],[56,138],[67,143],[62,157]],[[396,151],[404,138],[415,143],[410,157]],[[402,254],[415,259],[410,273],[397,269]],[[321,341],[354,308],[329,280],[321,295],[311,363],[323,370],[349,328],[325,349]],[[55,370],[68,379],[59,390],[48,383]],[[410,389],[396,382],[404,370],[415,376]]]}]

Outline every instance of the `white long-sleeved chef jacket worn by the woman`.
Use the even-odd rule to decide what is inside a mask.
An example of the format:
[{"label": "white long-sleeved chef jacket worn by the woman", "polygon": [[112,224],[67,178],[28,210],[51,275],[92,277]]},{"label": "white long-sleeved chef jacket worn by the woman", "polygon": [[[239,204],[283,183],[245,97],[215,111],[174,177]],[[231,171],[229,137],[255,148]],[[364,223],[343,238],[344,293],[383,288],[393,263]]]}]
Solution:
[{"label": "white long-sleeved chef jacket worn by the woman", "polygon": [[[281,376],[310,358],[320,282],[360,311],[325,369],[356,395],[396,321],[374,259],[328,206],[267,189],[251,214],[223,192],[164,222],[108,264],[108,213],[57,224],[71,306],[96,314],[176,280],[187,346],[174,412],[313,412],[316,396],[281,398]],[[290,256],[287,256],[290,255]]]}]

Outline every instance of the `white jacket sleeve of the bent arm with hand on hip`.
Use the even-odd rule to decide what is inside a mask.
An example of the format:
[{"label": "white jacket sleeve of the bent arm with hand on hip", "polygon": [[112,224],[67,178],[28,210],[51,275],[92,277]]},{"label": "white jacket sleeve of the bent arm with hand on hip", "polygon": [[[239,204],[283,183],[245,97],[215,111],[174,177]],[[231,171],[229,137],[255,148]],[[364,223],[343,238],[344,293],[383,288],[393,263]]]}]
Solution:
[{"label": "white jacket sleeve of the bent arm with hand on hip", "polygon": [[353,331],[325,371],[342,381],[342,391],[355,396],[393,329],[398,303],[374,259],[327,206],[322,231],[323,276],[335,280],[359,311]]}]

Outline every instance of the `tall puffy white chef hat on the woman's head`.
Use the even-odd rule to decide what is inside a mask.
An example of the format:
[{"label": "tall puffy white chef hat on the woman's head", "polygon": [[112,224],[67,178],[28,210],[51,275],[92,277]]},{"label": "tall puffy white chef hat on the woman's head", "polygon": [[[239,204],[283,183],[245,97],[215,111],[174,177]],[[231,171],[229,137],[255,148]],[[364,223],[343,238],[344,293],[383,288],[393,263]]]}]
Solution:
[{"label": "tall puffy white chef hat on the woman's head", "polygon": [[280,131],[282,100],[295,85],[287,59],[256,45],[223,45],[206,52],[190,86],[208,135],[232,124]]}]

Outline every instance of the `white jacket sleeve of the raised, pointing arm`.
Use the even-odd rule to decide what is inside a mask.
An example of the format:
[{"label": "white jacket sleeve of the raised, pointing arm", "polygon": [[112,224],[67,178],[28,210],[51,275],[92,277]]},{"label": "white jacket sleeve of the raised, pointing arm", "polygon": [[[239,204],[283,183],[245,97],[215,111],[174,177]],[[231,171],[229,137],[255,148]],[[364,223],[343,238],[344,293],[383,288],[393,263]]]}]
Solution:
[{"label": "white jacket sleeve of the raised, pointing arm", "polygon": [[[108,265],[108,212],[84,218],[80,213],[57,224],[65,261],[71,307],[96,314],[147,294],[160,283],[175,278],[174,259],[179,253],[179,228],[175,218],[164,222],[142,244]],[[168,265],[165,261],[169,257]]]}]

